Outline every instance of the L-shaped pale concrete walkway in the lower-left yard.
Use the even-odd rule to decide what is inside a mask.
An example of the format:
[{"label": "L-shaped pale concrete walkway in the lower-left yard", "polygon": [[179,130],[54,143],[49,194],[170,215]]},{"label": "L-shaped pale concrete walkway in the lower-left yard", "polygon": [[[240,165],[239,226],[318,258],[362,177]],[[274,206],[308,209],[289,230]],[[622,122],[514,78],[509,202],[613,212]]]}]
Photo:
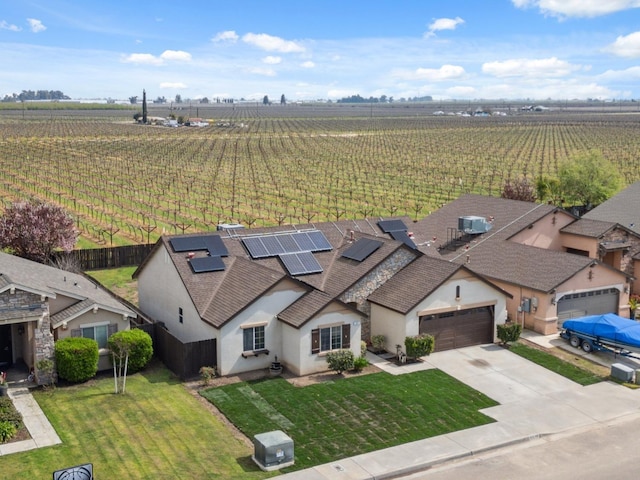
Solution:
[{"label": "L-shaped pale concrete walkway in the lower-left yard", "polygon": [[0,445],[0,456],[62,443],[27,387],[10,387],[8,394],[16,410],[22,414],[31,439]]}]

